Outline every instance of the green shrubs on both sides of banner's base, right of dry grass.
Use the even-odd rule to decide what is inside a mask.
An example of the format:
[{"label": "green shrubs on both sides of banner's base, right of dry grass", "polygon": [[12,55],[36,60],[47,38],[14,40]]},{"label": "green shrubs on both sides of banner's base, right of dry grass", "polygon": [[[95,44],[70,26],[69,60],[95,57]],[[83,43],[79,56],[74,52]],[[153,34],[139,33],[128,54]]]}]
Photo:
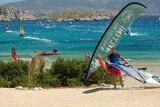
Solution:
[{"label": "green shrubs on both sides of banner's base, right of dry grass", "polygon": [[86,74],[88,69],[88,62],[84,60],[64,60],[58,58],[56,62],[52,64],[50,72],[55,75],[60,83],[60,86],[83,86],[100,83],[110,83],[111,77],[107,73],[98,69],[91,77],[86,80]]}]

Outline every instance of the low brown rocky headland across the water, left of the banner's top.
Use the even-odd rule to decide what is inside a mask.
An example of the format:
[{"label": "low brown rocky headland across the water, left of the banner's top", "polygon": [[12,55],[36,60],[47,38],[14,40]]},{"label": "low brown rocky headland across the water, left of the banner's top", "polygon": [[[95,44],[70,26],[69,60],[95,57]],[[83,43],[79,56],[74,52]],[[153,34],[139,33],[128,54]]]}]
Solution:
[{"label": "low brown rocky headland across the water, left of the banner's top", "polygon": [[70,20],[104,20],[109,19],[117,14],[116,11],[100,9],[93,11],[85,10],[65,10],[54,12],[50,15],[51,20],[70,21]]}]

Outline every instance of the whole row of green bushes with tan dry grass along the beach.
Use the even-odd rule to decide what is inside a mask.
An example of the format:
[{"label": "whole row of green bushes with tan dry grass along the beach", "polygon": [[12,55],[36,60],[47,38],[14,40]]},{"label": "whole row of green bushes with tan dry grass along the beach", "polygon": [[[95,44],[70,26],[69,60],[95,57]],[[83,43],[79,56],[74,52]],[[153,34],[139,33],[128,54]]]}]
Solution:
[{"label": "whole row of green bushes with tan dry grass along the beach", "polygon": [[50,69],[44,69],[42,58],[32,59],[30,64],[17,61],[0,62],[0,87],[80,87],[91,84],[111,83],[111,76],[98,69],[86,80],[88,62],[58,58]]}]

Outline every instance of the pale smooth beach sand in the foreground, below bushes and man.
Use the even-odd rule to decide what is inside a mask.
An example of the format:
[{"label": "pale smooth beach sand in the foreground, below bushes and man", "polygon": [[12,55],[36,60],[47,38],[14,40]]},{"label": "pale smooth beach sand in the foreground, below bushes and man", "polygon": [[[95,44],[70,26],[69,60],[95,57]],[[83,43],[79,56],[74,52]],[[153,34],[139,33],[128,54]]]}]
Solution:
[{"label": "pale smooth beach sand in the foreground, below bushes and man", "polygon": [[[140,66],[160,71],[159,65]],[[113,86],[43,90],[0,88],[0,95],[0,107],[160,107],[160,87],[144,85],[130,77],[125,77],[125,87],[118,89]]]}]

